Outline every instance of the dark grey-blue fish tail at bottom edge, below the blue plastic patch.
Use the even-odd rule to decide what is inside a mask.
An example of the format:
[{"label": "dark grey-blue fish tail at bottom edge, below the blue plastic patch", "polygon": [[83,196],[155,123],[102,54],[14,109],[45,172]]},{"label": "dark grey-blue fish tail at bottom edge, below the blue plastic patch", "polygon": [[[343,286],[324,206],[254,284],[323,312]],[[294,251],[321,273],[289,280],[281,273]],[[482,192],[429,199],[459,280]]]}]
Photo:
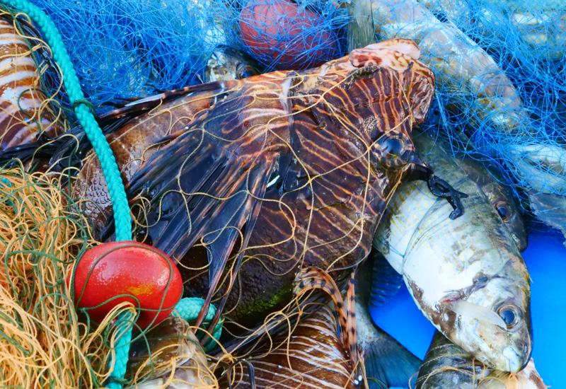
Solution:
[{"label": "dark grey-blue fish tail at bottom edge, below the blue plastic patch", "polygon": [[[364,366],[369,389],[410,388],[422,361],[383,330],[374,342],[366,342]],[[414,388],[415,385],[412,385]]]}]

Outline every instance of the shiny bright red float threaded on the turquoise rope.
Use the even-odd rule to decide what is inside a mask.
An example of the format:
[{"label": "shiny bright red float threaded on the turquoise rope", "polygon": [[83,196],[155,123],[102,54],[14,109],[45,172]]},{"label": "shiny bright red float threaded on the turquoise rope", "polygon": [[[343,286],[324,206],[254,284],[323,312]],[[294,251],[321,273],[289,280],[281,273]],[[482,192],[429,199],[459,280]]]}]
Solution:
[{"label": "shiny bright red float threaded on the turquoise rope", "polygon": [[177,266],[163,252],[144,243],[98,245],[85,252],[74,273],[76,306],[86,308],[97,323],[117,304],[127,301],[140,309],[136,323],[144,329],[165,319],[182,294]]}]

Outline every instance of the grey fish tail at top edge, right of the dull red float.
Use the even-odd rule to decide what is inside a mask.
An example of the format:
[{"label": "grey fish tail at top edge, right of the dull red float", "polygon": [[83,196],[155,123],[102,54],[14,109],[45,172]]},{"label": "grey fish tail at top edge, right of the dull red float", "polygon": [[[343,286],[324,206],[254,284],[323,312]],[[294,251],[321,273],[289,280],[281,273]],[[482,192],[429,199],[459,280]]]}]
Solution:
[{"label": "grey fish tail at top edge, right of the dull red float", "polygon": [[352,0],[347,36],[348,50],[352,51],[375,43],[375,35],[371,0]]}]

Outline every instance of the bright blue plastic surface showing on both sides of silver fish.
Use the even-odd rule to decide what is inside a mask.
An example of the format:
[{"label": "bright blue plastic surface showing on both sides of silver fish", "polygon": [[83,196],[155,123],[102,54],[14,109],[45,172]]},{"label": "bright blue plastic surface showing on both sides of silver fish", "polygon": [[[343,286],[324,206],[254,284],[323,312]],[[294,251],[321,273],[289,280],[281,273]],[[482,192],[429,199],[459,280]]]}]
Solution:
[{"label": "bright blue plastic surface showing on both sides of silver fish", "polygon": [[[531,274],[531,315],[533,359],[546,385],[566,388],[566,248],[563,237],[531,233],[529,248],[523,253]],[[379,327],[410,352],[423,358],[434,327],[424,318],[403,285],[392,301],[371,315]]]}]

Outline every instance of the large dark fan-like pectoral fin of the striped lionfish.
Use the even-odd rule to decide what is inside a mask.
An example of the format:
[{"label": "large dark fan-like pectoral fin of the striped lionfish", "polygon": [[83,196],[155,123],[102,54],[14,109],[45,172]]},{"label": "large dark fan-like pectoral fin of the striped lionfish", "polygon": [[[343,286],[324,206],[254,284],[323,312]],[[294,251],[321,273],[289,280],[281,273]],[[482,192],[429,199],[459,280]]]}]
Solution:
[{"label": "large dark fan-like pectoral fin of the striped lionfish", "polygon": [[[218,291],[236,243],[240,241],[240,248],[248,244],[260,199],[275,166],[275,161],[264,155],[255,161],[243,158],[227,151],[202,130],[185,132],[150,158],[127,187],[128,197],[134,201],[149,197],[145,216],[155,248],[177,261],[183,260],[194,245],[206,250],[209,293],[197,325]],[[240,250],[231,277],[238,271],[242,257]],[[219,303],[217,316],[224,302]]]}]

